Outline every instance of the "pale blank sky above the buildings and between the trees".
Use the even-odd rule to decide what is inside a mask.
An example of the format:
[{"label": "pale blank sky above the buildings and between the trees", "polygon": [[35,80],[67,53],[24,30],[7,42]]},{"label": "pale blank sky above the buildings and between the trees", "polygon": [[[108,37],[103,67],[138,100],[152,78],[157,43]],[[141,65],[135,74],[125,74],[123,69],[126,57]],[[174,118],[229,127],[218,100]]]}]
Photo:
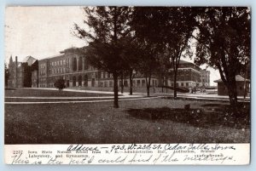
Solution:
[{"label": "pale blank sky above the buildings and between the trees", "polygon": [[[60,54],[71,47],[83,47],[84,40],[73,36],[73,24],[83,26],[84,11],[78,6],[58,7],[8,7],[5,10],[5,62],[9,57],[18,56],[22,61],[26,56],[41,60]],[[189,59],[183,59],[193,62]],[[202,69],[206,66],[201,66]],[[219,78],[212,68],[211,85]]]}]

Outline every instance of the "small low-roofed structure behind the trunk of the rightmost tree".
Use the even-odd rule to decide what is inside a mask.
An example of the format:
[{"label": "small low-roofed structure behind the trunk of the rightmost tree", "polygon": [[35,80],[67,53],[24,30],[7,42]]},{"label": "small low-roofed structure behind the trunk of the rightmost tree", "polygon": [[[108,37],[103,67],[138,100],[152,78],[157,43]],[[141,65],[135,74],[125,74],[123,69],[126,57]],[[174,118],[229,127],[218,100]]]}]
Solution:
[{"label": "small low-roofed structure behind the trunk of the rightmost tree", "polygon": [[[218,95],[229,95],[228,89],[224,86],[222,79],[215,80],[214,83],[218,83]],[[243,96],[246,93],[246,96],[249,93],[250,89],[250,80],[236,75],[236,91],[238,96]]]}]

